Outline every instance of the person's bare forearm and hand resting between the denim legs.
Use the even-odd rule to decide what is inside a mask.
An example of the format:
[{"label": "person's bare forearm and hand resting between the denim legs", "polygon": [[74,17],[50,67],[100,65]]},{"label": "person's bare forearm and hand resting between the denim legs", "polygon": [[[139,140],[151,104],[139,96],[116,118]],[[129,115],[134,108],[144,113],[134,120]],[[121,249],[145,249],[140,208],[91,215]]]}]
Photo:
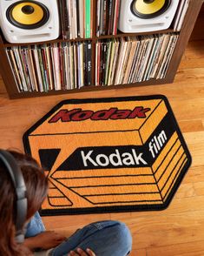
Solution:
[{"label": "person's bare forearm and hand resting between the denim legs", "polygon": [[43,250],[50,249],[60,245],[66,238],[55,231],[41,232],[35,237],[25,239],[24,246],[31,250],[41,248]]}]

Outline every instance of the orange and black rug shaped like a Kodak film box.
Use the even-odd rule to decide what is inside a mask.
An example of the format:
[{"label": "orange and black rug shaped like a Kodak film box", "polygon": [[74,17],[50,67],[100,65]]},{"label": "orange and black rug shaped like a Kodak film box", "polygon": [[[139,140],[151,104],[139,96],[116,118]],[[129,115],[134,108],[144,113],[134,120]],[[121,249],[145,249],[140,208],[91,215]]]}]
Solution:
[{"label": "orange and black rug shaped like a Kodak film box", "polygon": [[49,178],[43,215],[165,209],[191,163],[161,95],[65,100],[23,143]]}]

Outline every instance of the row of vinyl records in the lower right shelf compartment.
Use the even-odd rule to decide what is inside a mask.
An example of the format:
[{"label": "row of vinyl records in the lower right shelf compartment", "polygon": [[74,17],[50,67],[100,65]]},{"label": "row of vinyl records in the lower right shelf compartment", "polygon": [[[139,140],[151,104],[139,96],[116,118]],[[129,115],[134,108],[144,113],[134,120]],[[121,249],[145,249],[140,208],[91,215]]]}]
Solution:
[{"label": "row of vinyl records in the lower right shelf compartment", "polygon": [[98,41],[95,45],[95,85],[165,78],[177,39],[177,33],[168,33]]}]

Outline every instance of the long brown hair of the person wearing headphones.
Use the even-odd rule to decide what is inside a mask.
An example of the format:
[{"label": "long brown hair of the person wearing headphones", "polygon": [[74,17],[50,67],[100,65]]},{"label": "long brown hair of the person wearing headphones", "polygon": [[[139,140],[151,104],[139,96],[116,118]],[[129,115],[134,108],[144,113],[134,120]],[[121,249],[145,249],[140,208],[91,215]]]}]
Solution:
[{"label": "long brown hair of the person wearing headphones", "polygon": [[[21,168],[27,190],[28,210],[26,219],[29,220],[40,208],[47,195],[48,180],[43,174],[43,169],[34,158],[20,152],[8,151],[16,158],[17,165]],[[16,219],[16,192],[10,179],[10,174],[5,167],[0,165],[0,255],[23,256],[30,252],[23,245],[16,244],[15,219]]]}]

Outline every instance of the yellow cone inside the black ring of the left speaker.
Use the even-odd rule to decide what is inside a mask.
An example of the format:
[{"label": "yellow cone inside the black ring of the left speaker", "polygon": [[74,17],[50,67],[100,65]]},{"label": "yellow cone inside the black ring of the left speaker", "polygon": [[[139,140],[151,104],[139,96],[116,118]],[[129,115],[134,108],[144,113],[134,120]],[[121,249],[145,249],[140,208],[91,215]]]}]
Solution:
[{"label": "yellow cone inside the black ring of the left speaker", "polygon": [[23,2],[13,8],[11,16],[19,24],[31,25],[39,23],[43,19],[44,13],[40,5]]}]

